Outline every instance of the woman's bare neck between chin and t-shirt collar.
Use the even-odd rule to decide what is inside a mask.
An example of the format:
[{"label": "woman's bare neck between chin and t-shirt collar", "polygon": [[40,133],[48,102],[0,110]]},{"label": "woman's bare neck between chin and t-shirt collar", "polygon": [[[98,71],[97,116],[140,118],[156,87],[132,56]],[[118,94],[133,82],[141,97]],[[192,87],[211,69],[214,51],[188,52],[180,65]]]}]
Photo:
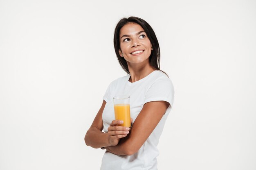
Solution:
[{"label": "woman's bare neck between chin and t-shirt collar", "polygon": [[149,61],[147,63],[141,63],[141,64],[128,64],[128,69],[130,72],[130,79],[129,81],[131,83],[134,83],[135,81],[139,81],[140,79],[148,76],[148,74],[152,73],[156,69],[151,67],[149,64]]}]

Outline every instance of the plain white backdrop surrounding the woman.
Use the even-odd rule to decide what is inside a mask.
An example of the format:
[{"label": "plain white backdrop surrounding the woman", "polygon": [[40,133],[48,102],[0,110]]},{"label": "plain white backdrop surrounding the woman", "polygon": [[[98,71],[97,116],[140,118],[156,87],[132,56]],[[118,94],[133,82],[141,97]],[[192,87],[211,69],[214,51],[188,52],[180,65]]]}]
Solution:
[{"label": "plain white backdrop surrounding the woman", "polygon": [[175,87],[159,170],[256,169],[253,0],[0,0],[0,169],[99,170],[84,135],[114,79],[114,28],[154,29]]}]

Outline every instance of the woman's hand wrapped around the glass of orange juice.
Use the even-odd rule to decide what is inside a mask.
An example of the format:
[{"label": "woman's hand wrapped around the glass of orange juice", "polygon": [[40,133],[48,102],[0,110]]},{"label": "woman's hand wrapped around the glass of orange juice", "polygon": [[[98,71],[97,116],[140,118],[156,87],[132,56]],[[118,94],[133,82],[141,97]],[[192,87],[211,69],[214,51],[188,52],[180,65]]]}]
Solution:
[{"label": "woman's hand wrapped around the glass of orange juice", "polygon": [[108,142],[111,146],[116,146],[122,137],[126,137],[128,135],[130,128],[119,126],[119,124],[123,123],[124,122],[122,120],[113,120],[108,127]]}]

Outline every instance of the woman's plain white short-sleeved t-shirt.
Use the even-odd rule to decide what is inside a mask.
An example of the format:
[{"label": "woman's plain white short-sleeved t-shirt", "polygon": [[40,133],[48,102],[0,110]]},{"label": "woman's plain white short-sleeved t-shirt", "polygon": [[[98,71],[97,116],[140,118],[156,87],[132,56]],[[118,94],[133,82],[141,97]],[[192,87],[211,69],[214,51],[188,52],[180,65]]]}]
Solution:
[{"label": "woman's plain white short-sleeved t-shirt", "polygon": [[103,100],[106,101],[102,113],[104,132],[108,132],[110,123],[115,120],[114,96],[130,96],[130,116],[133,122],[147,102],[163,100],[169,102],[170,106],[137,153],[130,156],[121,156],[106,151],[102,158],[101,170],[157,170],[156,157],[159,155],[157,144],[173,105],[173,84],[166,74],[159,70],[153,71],[134,83],[129,82],[129,78],[130,75],[112,81],[103,96]]}]

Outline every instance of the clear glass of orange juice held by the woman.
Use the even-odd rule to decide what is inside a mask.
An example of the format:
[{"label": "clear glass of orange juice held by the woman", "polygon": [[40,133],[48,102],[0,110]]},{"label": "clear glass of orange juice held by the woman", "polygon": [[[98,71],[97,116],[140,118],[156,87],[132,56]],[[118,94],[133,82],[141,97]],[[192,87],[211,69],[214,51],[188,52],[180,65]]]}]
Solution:
[{"label": "clear glass of orange juice held by the woman", "polygon": [[123,120],[119,126],[130,127],[130,96],[115,96],[114,98],[115,119]]}]

